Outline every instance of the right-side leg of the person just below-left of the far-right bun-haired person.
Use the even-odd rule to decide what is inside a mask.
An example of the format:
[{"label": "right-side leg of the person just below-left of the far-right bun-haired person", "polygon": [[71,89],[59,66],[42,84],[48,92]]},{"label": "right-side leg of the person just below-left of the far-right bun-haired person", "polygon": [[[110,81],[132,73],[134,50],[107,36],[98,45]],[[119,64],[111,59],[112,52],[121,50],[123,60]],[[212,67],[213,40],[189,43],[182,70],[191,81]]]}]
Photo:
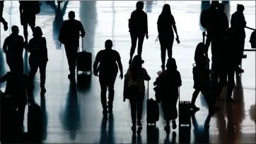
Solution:
[{"label": "right-side leg of the person just below-left of the far-right bun-haired person", "polygon": [[233,93],[233,89],[235,87],[235,69],[231,69],[230,71],[228,71],[228,88],[227,88],[227,93],[226,93],[226,101],[227,102],[233,102],[232,99],[232,93]]}]

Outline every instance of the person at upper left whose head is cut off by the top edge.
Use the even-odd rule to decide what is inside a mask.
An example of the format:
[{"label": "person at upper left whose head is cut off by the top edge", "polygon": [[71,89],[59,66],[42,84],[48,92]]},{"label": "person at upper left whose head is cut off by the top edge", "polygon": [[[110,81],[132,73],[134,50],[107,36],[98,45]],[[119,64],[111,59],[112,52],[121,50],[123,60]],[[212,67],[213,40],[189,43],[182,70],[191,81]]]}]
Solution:
[{"label": "person at upper left whose head is cut off by the top edge", "polygon": [[23,32],[25,37],[25,44],[28,44],[28,25],[33,31],[35,28],[35,15],[40,6],[39,1],[19,1],[20,2],[20,14],[21,14],[21,25],[23,25]]}]

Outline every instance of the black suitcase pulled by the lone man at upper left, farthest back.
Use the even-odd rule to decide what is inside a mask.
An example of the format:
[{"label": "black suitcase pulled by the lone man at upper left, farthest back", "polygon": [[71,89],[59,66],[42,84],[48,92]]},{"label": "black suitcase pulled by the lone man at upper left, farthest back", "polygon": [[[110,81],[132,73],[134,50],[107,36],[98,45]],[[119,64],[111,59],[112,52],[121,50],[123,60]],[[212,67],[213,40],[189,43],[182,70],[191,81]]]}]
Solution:
[{"label": "black suitcase pulled by the lone man at upper left, farthest back", "polygon": [[78,74],[78,71],[84,72],[90,72],[92,73],[92,54],[91,52],[86,52],[86,50],[83,49],[83,38],[82,38],[82,52],[79,51],[78,47],[78,54],[76,59],[76,74]]}]

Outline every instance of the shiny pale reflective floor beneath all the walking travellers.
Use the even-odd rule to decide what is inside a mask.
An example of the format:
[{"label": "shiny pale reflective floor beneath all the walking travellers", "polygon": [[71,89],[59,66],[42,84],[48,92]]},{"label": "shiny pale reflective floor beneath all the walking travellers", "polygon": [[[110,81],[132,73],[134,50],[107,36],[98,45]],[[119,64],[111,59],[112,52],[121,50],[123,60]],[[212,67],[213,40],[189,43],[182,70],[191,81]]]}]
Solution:
[{"label": "shiny pale reflective floor beneath all the walking travellers", "polygon": [[[180,44],[174,42],[173,56],[177,61],[182,76],[180,99],[191,100],[193,92],[192,64],[194,49],[202,42],[203,29],[199,25],[202,9],[209,7],[209,1],[146,1],[144,10],[149,19],[149,40],[144,40],[144,67],[152,80],[149,83],[149,96],[154,97],[153,80],[156,72],[161,70],[160,45],[155,42],[156,21],[163,4],[170,4],[177,23]],[[223,108],[211,118],[209,129],[204,126],[208,114],[206,102],[202,95],[197,99],[200,111],[192,117],[192,128],[177,128],[166,135],[163,130],[165,121],[161,119],[155,130],[146,128],[146,101],[143,112],[143,129],[140,136],[132,134],[129,102],[123,102],[123,80],[117,78],[115,83],[115,102],[113,115],[105,123],[100,104],[100,85],[98,77],[78,76],[76,90],[71,88],[67,75],[69,73],[66,54],[59,46],[58,32],[69,11],[76,12],[86,30],[84,47],[92,52],[93,59],[104,42],[114,42],[113,49],[120,52],[124,72],[127,71],[130,49],[128,19],[135,8],[136,1],[66,1],[61,4],[62,12],[57,13],[56,4],[42,1],[42,11],[37,15],[39,25],[47,39],[49,62],[45,97],[40,97],[39,72],[35,78],[35,100],[44,112],[44,143],[255,143],[255,52],[246,52],[248,58],[243,60],[245,73],[236,78],[233,98],[235,104],[218,104]],[[226,3],[228,18],[235,12],[236,4],[245,6],[245,19],[248,26],[255,28],[255,1],[231,1]],[[10,25],[20,23],[18,1],[4,2],[4,18]],[[250,33],[246,30],[245,48],[250,49]],[[1,25],[1,47],[11,30],[4,31]],[[29,30],[29,38],[32,32]],[[28,53],[24,52],[25,73],[30,71]],[[5,54],[0,49],[0,76],[9,71]],[[1,84],[4,90],[5,83]],[[146,94],[147,95],[147,94]],[[145,99],[146,100],[146,99]],[[28,109],[26,108],[26,111]],[[25,114],[24,126],[27,126]],[[147,133],[148,130],[148,133]]]}]

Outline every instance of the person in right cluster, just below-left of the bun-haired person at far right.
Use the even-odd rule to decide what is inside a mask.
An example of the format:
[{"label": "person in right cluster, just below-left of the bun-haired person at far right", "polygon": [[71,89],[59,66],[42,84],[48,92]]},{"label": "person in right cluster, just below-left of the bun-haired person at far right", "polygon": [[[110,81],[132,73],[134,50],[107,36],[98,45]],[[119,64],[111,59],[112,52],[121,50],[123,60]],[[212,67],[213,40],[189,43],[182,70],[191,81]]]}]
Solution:
[{"label": "person in right cluster, just below-left of the bun-haired person at far right", "polygon": [[[237,37],[235,35],[235,29],[228,28],[226,30],[226,39],[223,49],[221,49],[220,54],[220,64],[221,64],[221,73],[219,78],[220,90],[219,95],[223,86],[228,84],[226,92],[226,102],[233,102],[232,93],[233,88],[235,87],[235,69],[237,68],[239,59],[239,50],[235,49],[236,44],[238,43]],[[232,53],[231,53],[232,52]],[[227,80],[228,78],[228,80]]]}]

